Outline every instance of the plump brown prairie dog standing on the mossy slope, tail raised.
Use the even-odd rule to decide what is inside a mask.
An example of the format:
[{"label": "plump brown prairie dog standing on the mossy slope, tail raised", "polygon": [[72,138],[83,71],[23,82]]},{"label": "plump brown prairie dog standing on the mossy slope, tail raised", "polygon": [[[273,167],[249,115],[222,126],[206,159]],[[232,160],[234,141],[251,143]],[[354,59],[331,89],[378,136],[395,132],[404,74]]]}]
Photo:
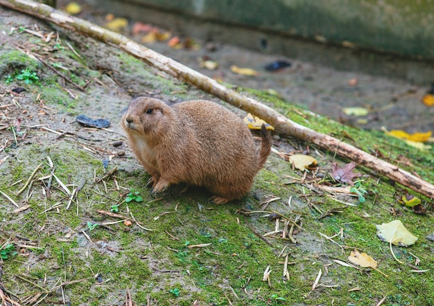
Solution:
[{"label": "plump brown prairie dog standing on the mossy slope, tail raised", "polygon": [[250,190],[272,144],[263,126],[257,152],[243,120],[207,100],[169,107],[154,98],[136,98],[121,125],[132,151],[152,176],[153,192],[174,183],[205,186],[214,193],[216,204],[239,199]]}]

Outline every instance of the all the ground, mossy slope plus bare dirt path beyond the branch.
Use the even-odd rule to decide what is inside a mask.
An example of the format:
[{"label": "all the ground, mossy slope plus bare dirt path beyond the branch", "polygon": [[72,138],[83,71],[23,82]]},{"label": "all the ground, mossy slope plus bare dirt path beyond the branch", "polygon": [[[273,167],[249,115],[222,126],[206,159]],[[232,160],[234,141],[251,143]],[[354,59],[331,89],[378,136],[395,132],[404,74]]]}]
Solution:
[{"label": "all the ground, mossy slope plus bare dirt path beyond the branch", "polygon": [[[88,8],[81,17],[102,22],[104,15]],[[430,199],[421,197],[428,213],[416,215],[396,201],[408,190],[366,169],[365,204],[354,193],[329,194],[315,183],[325,178],[327,186],[335,187],[327,179],[331,161],[347,161],[279,135],[274,146],[281,151],[311,150],[320,164],[318,177],[297,172],[272,154],[252,191],[233,204],[211,205],[209,194],[200,189],[180,195],[182,186],[152,197],[144,184],[148,174],[119,127],[123,109],[135,96],[166,102],[217,99],[112,46],[1,7],[0,35],[0,190],[16,204],[2,195],[0,255],[8,258],[2,256],[0,291],[14,305],[130,305],[130,298],[135,305],[434,303]],[[276,60],[271,55],[224,44],[211,52],[205,42],[200,45],[196,51],[174,50],[166,43],[150,47],[234,86],[273,89],[277,94],[266,93],[277,101],[272,106],[290,116],[297,116],[290,113],[295,109],[290,103],[297,103],[364,129],[433,129],[433,109],[420,102],[426,88],[294,59],[286,59],[290,68],[268,73],[263,65]],[[204,55],[219,62],[218,70],[200,68],[197,57]],[[232,64],[260,74],[235,75],[229,71]],[[26,68],[40,80],[18,80],[17,73]],[[350,85],[354,79],[357,84]],[[19,88],[25,91],[12,91]],[[283,105],[276,96],[284,99]],[[342,114],[342,107],[367,105],[373,110],[363,125]],[[111,125],[84,127],[76,122],[79,114],[105,118]],[[407,170],[432,179],[426,167],[431,152],[406,147],[380,132],[330,123],[309,111],[297,119],[325,133],[347,132],[354,144],[383,152],[392,162],[405,155]],[[75,189],[75,197],[67,192]],[[143,201],[125,204],[131,189]],[[111,208],[116,205],[115,213]],[[392,255],[392,246],[376,237],[375,224],[397,217],[419,242],[408,249],[393,246]],[[290,231],[293,240],[282,238],[282,231]],[[8,244],[17,253],[7,253]],[[376,258],[387,281],[373,269],[336,263],[348,262],[352,249]]]}]

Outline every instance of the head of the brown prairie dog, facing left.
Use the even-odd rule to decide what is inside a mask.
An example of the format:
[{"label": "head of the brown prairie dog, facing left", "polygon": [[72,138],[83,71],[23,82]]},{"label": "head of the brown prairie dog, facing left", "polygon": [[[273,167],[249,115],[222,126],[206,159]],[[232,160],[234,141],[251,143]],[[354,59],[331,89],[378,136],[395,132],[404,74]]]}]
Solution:
[{"label": "head of the brown prairie dog, facing left", "polygon": [[131,101],[122,116],[125,132],[150,140],[162,137],[170,127],[172,110],[166,103],[153,98],[139,97]]}]

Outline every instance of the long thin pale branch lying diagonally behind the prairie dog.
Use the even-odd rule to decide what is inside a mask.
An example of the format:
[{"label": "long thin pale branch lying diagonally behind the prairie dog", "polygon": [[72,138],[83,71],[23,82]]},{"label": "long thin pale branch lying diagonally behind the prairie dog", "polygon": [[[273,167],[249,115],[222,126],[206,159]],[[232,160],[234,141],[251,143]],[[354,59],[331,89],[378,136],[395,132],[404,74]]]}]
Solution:
[{"label": "long thin pale branch lying diagonally behind the prairie dog", "polygon": [[367,168],[385,175],[385,177],[388,177],[389,179],[401,183],[403,186],[434,199],[434,186],[431,183],[399,169],[396,165],[377,159],[352,145],[343,143],[336,138],[294,123],[292,120],[285,118],[274,109],[263,105],[257,100],[243,96],[232,89],[227,89],[215,80],[198,73],[198,71],[194,71],[171,58],[165,57],[164,55],[146,48],[145,46],[141,46],[123,35],[96,26],[89,21],[67,15],[60,10],[51,8],[51,6],[46,6],[34,1],[0,0],[0,4],[14,10],[19,10],[28,15],[51,21],[53,24],[57,24],[58,26],[70,30],[77,30],[80,33],[85,33],[86,35],[103,42],[114,44],[130,55],[143,60],[150,66],[154,66],[169,75],[173,75],[173,77],[177,79],[193,84],[199,89],[202,89],[202,91],[211,93],[211,95],[229,102],[231,105],[263,118],[282,134],[300,138],[303,141],[314,143],[315,145],[319,145],[331,152],[336,152],[339,156],[354,160]]}]

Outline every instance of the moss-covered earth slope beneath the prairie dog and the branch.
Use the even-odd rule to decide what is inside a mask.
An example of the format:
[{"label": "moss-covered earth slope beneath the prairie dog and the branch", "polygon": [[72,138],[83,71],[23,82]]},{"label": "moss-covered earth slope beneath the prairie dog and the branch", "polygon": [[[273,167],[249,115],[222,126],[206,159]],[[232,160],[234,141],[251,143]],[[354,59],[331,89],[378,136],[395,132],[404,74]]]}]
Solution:
[{"label": "moss-covered earth slope beneath the prairie dog and the branch", "polygon": [[[35,22],[20,18],[21,24]],[[47,33],[51,30],[40,27]],[[64,32],[59,33],[61,39],[66,39]],[[12,242],[18,252],[3,260],[1,280],[9,296],[19,298],[23,304],[26,299],[35,298],[33,303],[42,300],[43,305],[63,303],[62,296],[71,305],[121,305],[128,290],[137,305],[146,305],[148,301],[150,305],[193,305],[195,300],[200,305],[376,305],[383,297],[387,305],[434,304],[434,245],[426,239],[433,233],[432,200],[421,197],[428,213],[416,215],[397,203],[397,197],[408,190],[365,170],[363,173],[369,174],[363,178],[363,187],[369,190],[366,201],[358,204],[353,197],[339,197],[356,206],[320,218],[322,212],[345,205],[315,192],[311,184],[302,183],[303,174],[274,154],[257,175],[252,191],[231,204],[209,204],[209,193],[201,189],[180,194],[182,186],[173,186],[152,197],[145,187],[148,174],[141,170],[128,147],[121,147],[127,151],[125,158],[117,155],[119,149],[111,145],[112,141],[124,140],[116,123],[121,111],[128,105],[129,95],[146,94],[148,89],[152,91],[148,94],[159,98],[175,96],[185,100],[203,98],[203,93],[155,75],[137,60],[91,39],[75,37],[71,42],[82,55],[77,61],[67,48],[59,48],[54,42],[27,45],[29,36],[12,33],[8,42],[19,42],[36,53],[56,47],[55,60],[70,69],[64,73],[74,82],[83,86],[87,80],[96,81],[85,91],[74,89],[27,56],[11,51],[8,42],[3,43],[10,51],[3,53],[2,58],[9,58],[17,66],[31,67],[41,76],[39,83],[26,85],[17,80],[6,84],[0,75],[1,94],[17,86],[26,88],[19,97],[21,108],[9,107],[9,119],[5,121],[18,128],[16,119],[21,120],[17,145],[13,144],[10,129],[1,130],[1,138],[8,143],[0,157],[9,156],[0,165],[1,190],[20,207],[28,205],[25,210],[14,212],[16,207],[2,198],[1,244]],[[99,60],[103,68],[97,69]],[[113,73],[107,73],[107,69]],[[123,84],[125,88],[121,87]],[[379,150],[392,162],[399,155],[407,156],[413,165],[403,168],[434,181],[434,174],[428,170],[433,151],[420,152],[380,132],[340,125],[268,93],[240,90],[297,123],[333,134],[367,152]],[[6,99],[8,103],[11,98]],[[112,131],[80,127],[74,119],[75,114],[82,112],[109,118]],[[42,127],[73,134],[60,136]],[[282,138],[279,150],[300,150],[307,145],[326,176],[332,161],[341,165],[347,162],[333,152],[295,139]],[[46,156],[53,161],[53,167]],[[42,167],[31,187],[15,196],[40,163]],[[98,180],[115,167],[113,176]],[[71,196],[51,173],[71,191],[84,182],[69,209]],[[143,201],[125,203],[130,188],[138,191]],[[265,207],[263,201],[271,197],[279,199]],[[123,218],[104,213],[116,204],[117,214]],[[275,220],[270,221],[268,213],[246,215],[241,208],[277,211],[291,219],[300,215],[302,229],[294,233],[297,243],[263,237],[275,230]],[[124,218],[130,218],[132,226],[115,223]],[[394,255],[404,264],[397,262],[388,244],[376,237],[375,224],[392,219],[401,219],[419,237],[414,246],[393,247]],[[328,237],[341,233],[333,241],[343,251],[320,233]],[[388,278],[373,269],[342,267],[333,261],[348,262],[353,248],[379,261],[378,269]],[[286,255],[289,279],[283,276]],[[416,257],[420,260],[418,267]],[[263,281],[268,266],[270,282]],[[416,269],[427,271],[413,272]],[[320,270],[321,286],[312,290]]]}]

